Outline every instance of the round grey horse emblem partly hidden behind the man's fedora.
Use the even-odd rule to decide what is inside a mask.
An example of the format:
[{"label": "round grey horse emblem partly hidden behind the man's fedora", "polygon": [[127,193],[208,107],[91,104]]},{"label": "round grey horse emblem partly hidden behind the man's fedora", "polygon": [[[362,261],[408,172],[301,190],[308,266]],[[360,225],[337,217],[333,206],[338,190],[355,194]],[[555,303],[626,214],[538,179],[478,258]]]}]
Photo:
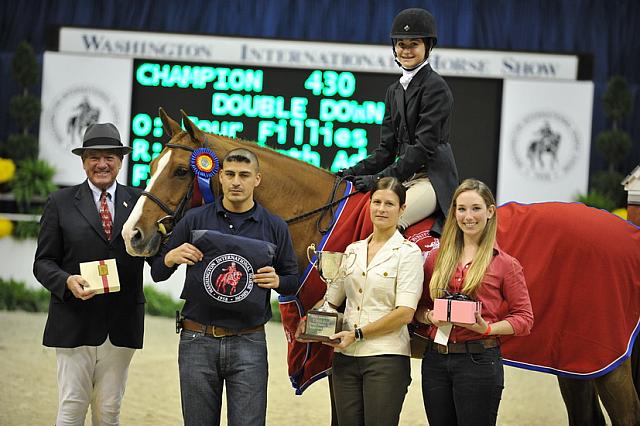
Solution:
[{"label": "round grey horse emblem partly hidden behind the man's fedora", "polygon": [[94,86],[69,87],[47,108],[47,121],[55,140],[64,148],[82,145],[87,126],[94,123],[120,124],[118,107],[103,90]]}]

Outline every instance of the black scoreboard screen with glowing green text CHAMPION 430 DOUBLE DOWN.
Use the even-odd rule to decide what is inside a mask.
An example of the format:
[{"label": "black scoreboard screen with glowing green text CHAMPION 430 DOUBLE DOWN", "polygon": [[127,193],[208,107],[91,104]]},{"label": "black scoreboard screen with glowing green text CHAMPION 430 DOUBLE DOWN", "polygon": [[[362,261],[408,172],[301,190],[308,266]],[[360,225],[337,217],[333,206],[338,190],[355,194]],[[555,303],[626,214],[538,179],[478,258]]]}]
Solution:
[{"label": "black scoreboard screen with glowing green text CHAMPION 430 DOUBLE DOWN", "polygon": [[[162,151],[158,108],[180,109],[203,131],[254,141],[332,172],[379,144],[384,96],[397,74],[136,59],[129,184],[144,187]],[[461,179],[495,188],[502,80],[447,77],[454,96],[451,145]]]}]

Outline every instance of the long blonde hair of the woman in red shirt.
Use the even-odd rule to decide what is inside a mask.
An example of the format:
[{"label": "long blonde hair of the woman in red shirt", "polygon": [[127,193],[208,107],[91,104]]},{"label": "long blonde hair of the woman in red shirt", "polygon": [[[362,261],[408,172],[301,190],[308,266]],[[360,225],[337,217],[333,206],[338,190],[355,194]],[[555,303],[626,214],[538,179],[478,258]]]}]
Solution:
[{"label": "long blonde hair of the woman in red shirt", "polygon": [[[458,226],[456,220],[457,200],[458,196],[463,192],[475,191],[484,200],[487,208],[496,205],[496,200],[491,190],[483,182],[476,179],[466,179],[458,186],[453,194],[449,214],[444,225],[442,238],[440,238],[440,250],[438,259],[429,282],[429,293],[432,299],[444,296],[444,290],[449,287],[451,278],[456,270],[456,266],[462,257],[462,248],[464,245],[463,233]],[[498,217],[494,215],[487,221],[480,236],[480,247],[476,253],[473,263],[467,272],[462,285],[462,293],[473,295],[482,282],[491,259],[493,258],[493,245],[496,241],[496,232],[498,230]]]}]

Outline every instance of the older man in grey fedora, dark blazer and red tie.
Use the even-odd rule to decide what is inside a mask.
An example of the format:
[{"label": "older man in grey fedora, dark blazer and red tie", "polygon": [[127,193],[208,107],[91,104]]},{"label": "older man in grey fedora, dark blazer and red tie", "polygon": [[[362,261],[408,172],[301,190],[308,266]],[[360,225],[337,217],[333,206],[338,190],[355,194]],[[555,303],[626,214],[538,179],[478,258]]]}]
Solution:
[{"label": "older man in grey fedora, dark blazer and red tie", "polygon": [[[123,146],[111,123],[90,125],[82,147],[87,180],[51,194],[40,221],[33,273],[51,292],[43,344],[56,348],[56,424],[119,423],[129,363],[142,347],[142,258],[129,256],[120,232],[140,191],[116,182]],[[115,259],[120,291],[95,294],[80,276],[82,262]]]}]

